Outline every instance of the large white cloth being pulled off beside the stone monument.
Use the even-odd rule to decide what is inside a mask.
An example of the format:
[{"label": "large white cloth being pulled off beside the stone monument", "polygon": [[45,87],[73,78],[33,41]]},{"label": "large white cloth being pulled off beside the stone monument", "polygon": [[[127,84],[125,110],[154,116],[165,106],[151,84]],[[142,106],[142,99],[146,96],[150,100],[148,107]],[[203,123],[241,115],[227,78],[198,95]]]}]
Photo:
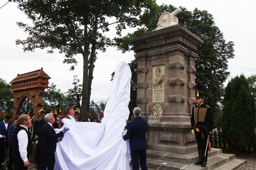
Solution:
[{"label": "large white cloth being pulled off beside the stone monument", "polygon": [[119,63],[101,123],[62,120],[70,130],[57,143],[54,169],[130,169],[130,147],[122,133],[129,116],[131,76],[129,65]]}]

